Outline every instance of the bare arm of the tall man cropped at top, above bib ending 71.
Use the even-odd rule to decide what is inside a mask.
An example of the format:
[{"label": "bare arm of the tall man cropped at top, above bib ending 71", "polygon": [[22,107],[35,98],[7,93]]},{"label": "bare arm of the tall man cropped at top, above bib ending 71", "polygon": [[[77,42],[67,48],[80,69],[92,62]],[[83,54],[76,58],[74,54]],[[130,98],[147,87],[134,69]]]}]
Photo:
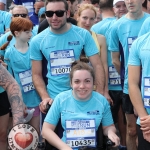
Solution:
[{"label": "bare arm of the tall man cropped at top, above bib ending 71", "polygon": [[120,74],[120,65],[121,65],[120,52],[112,52],[111,57],[112,57],[112,63],[114,67],[116,68],[117,72]]}]

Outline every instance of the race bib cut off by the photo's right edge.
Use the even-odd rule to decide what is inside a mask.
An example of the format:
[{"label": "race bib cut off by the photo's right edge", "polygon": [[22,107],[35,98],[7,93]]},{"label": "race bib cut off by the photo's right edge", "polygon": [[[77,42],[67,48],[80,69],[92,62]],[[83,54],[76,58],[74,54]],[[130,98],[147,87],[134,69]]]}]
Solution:
[{"label": "race bib cut off by the photo's right edge", "polygon": [[150,78],[144,78],[144,106],[150,108]]}]

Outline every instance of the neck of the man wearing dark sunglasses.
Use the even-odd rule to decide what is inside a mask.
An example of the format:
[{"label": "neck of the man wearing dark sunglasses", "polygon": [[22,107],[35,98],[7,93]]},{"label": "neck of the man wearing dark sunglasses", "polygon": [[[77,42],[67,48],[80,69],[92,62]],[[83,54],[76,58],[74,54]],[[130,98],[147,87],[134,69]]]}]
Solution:
[{"label": "neck of the man wearing dark sunglasses", "polygon": [[65,33],[66,31],[68,31],[69,29],[71,28],[71,24],[69,23],[66,23],[63,27],[61,27],[60,29],[53,29],[50,27],[50,30],[53,32],[53,33],[56,33],[56,34],[62,34],[62,33]]}]

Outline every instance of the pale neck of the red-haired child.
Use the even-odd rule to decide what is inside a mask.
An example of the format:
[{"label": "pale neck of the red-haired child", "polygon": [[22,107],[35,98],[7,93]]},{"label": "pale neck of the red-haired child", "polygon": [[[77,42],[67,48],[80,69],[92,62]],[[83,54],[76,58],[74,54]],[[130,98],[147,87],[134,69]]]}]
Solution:
[{"label": "pale neck of the red-haired child", "polygon": [[29,46],[27,42],[23,42],[19,39],[16,39],[15,47],[18,51],[25,53],[28,50]]}]

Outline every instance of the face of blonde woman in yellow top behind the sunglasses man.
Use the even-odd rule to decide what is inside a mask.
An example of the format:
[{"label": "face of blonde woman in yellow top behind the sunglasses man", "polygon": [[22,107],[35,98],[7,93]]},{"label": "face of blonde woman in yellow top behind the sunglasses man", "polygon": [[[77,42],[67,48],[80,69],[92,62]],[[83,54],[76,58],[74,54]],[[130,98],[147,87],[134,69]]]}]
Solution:
[{"label": "face of blonde woman in yellow top behind the sunglasses man", "polygon": [[92,9],[85,9],[78,16],[78,26],[90,31],[92,25],[95,23],[96,14]]}]

